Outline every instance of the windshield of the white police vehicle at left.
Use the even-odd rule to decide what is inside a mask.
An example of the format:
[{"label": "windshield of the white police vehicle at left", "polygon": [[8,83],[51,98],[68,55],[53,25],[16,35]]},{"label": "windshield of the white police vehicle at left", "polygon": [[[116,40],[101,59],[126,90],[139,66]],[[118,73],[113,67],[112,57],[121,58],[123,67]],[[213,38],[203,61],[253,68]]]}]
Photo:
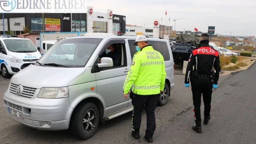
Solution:
[{"label": "windshield of the white police vehicle at left", "polygon": [[6,39],[4,43],[11,52],[36,52],[37,48],[30,40],[25,39]]}]

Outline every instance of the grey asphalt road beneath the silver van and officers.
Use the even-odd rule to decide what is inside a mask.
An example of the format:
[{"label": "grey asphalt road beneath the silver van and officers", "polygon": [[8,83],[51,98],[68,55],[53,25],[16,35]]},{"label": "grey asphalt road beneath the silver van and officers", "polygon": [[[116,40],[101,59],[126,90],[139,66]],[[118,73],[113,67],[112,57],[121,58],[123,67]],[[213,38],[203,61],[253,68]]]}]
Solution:
[{"label": "grey asphalt road beneath the silver van and officers", "polygon": [[[202,124],[202,133],[192,130],[194,125],[191,87],[184,87],[184,75],[175,75],[175,89],[165,106],[158,106],[155,144],[255,144],[256,64],[247,71],[221,76],[219,88],[214,90],[212,118]],[[178,71],[180,74],[180,71]],[[89,140],[80,140],[65,131],[40,131],[9,118],[3,108],[3,94],[9,79],[0,76],[0,144],[146,144],[145,110],[142,114],[141,138],[131,136],[132,113],[100,125]],[[203,115],[203,103],[201,115]]]}]

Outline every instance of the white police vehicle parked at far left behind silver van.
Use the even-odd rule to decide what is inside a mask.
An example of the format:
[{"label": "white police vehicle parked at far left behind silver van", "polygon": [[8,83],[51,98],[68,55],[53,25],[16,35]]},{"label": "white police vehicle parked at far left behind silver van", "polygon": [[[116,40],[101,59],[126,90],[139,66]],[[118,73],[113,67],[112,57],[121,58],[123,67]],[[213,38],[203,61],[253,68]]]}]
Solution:
[{"label": "white police vehicle parked at far left behind silver van", "polygon": [[35,63],[40,57],[31,40],[13,35],[0,36],[0,71],[4,78]]}]

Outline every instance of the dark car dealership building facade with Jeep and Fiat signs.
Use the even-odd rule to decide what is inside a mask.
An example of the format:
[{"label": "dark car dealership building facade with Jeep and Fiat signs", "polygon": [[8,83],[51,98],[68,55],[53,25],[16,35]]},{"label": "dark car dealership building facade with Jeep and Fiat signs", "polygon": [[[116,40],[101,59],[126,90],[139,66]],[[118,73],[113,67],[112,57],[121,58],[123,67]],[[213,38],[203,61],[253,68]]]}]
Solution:
[{"label": "dark car dealership building facade with Jeep and Fiat signs", "polygon": [[106,13],[98,13],[88,6],[87,13],[72,13],[72,16],[71,13],[44,13],[44,22],[42,19],[42,13],[5,13],[3,23],[1,14],[0,34],[3,34],[3,25],[5,32],[12,31],[14,35],[26,33],[25,28],[29,33],[40,33],[43,32],[43,23],[44,32],[125,33],[125,16],[114,15],[109,9]]}]

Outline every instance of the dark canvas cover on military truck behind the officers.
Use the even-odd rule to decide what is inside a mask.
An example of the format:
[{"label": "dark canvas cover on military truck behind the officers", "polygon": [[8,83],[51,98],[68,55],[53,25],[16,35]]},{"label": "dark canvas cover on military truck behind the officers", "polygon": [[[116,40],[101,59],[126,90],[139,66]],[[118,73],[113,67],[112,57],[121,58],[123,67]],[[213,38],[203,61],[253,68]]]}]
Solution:
[{"label": "dark canvas cover on military truck behind the officers", "polygon": [[176,38],[176,42],[177,43],[191,43],[192,45],[195,45],[196,47],[199,47],[199,45],[200,45],[200,40],[191,34],[180,34]]}]

